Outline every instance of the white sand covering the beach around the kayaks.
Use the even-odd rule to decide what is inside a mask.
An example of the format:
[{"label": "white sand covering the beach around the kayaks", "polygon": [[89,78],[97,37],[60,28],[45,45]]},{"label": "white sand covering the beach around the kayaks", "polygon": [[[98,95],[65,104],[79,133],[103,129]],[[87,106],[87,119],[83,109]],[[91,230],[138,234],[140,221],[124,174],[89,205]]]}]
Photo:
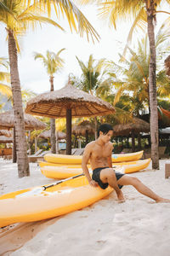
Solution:
[{"label": "white sand covering the beach around the kayaks", "polygon": [[[170,198],[165,161],[160,160],[160,171],[149,166],[147,172],[132,175]],[[31,177],[18,178],[16,164],[0,159],[0,195],[53,181],[42,176],[37,164],[31,164]],[[170,204],[156,204],[130,186],[122,192],[127,199],[122,204],[113,192],[81,211],[1,229],[0,255],[169,256]]]}]

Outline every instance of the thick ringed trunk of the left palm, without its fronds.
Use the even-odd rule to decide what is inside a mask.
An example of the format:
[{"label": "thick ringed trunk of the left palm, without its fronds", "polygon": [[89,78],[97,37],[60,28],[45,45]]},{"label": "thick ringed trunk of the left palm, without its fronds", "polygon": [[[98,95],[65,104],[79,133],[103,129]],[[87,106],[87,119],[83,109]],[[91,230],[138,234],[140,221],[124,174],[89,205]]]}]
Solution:
[{"label": "thick ringed trunk of the left palm, without its fronds", "polygon": [[8,30],[8,56],[10,65],[11,87],[14,102],[14,126],[16,130],[17,164],[19,177],[30,176],[27,157],[26,135],[24,127],[24,113],[20,90],[20,78],[18,70],[18,56],[13,32]]}]

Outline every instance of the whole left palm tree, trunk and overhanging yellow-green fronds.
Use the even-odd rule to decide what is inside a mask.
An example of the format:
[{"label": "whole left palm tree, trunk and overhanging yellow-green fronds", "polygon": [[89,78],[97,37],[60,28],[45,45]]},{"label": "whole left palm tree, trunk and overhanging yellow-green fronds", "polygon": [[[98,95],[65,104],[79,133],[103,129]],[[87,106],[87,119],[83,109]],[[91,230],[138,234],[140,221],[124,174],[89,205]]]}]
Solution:
[{"label": "whole left palm tree, trunk and overhanging yellow-green fronds", "polygon": [[[26,3],[27,7],[25,5]],[[81,35],[83,35],[83,32],[86,32],[87,36],[90,35],[93,40],[94,38],[99,38],[99,35],[95,32],[93,26],[91,26],[84,15],[82,15],[81,11],[70,1],[63,2],[61,0],[60,2],[56,2],[43,0],[37,2],[35,0],[33,5],[30,5],[30,3],[31,1],[29,0],[2,0],[0,3],[0,21],[6,26],[6,31],[8,33],[8,56],[14,100],[14,114],[16,119],[15,128],[18,147],[19,177],[28,176],[30,175],[30,172],[26,154],[26,136],[24,131],[24,116],[17,56],[20,47],[17,38],[26,32],[29,25],[32,25],[34,28],[37,23],[49,23],[64,30],[58,23],[54,22],[54,20],[38,15],[40,12],[46,12],[47,9],[48,15],[50,15],[51,5],[54,6],[58,17],[59,10],[61,10],[63,15],[65,14],[71,29],[73,27]],[[77,25],[75,20],[77,20]]]}]

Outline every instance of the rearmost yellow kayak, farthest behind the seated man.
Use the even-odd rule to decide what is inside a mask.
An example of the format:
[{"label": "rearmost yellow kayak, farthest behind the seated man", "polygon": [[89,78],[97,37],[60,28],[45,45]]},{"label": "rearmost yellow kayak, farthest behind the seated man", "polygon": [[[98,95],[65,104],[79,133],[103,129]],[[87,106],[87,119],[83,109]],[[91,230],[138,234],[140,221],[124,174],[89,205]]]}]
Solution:
[{"label": "rearmost yellow kayak, farthest behind the seated man", "polygon": [[[112,162],[124,162],[139,160],[142,157],[143,150],[127,154],[112,154]],[[62,165],[80,165],[82,164],[82,155],[68,155],[68,154],[45,154],[44,160],[49,163]]]}]

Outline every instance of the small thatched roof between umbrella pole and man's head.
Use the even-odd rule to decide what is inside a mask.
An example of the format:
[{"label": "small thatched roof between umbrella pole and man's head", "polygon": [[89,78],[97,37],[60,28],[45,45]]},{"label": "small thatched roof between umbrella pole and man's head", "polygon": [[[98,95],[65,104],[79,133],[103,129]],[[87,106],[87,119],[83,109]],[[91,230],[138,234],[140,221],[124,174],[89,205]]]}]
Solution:
[{"label": "small thatched roof between umbrella pole and man's head", "polygon": [[94,124],[88,120],[84,120],[79,125],[74,125],[72,127],[72,133],[76,135],[85,136],[87,131],[88,134],[94,134],[95,132]]}]

